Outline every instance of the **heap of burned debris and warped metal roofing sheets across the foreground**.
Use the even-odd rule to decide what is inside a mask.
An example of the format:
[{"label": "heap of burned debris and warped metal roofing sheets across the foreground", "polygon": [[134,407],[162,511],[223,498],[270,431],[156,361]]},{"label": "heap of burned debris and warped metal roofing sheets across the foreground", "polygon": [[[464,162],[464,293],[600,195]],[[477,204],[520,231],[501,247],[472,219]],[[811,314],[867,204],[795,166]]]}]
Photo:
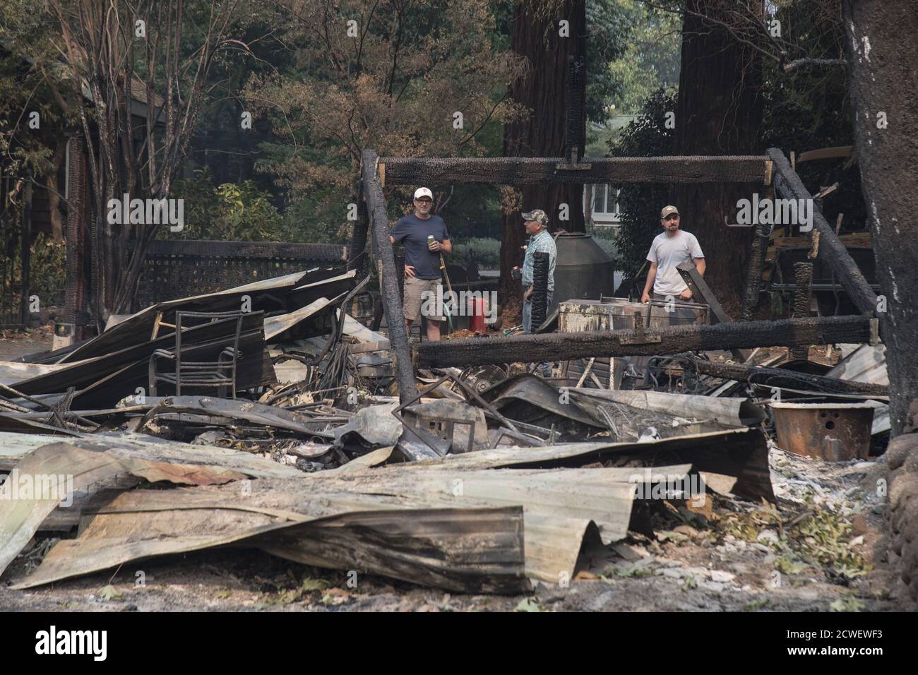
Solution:
[{"label": "heap of burned debris and warped metal roofing sheets across the foreground", "polygon": [[[775,323],[666,328],[649,313],[604,340],[545,331],[399,359],[367,325],[368,281],[313,269],[162,302],[0,363],[0,489],[14,497],[0,500],[0,572],[38,537],[53,546],[16,588],[232,545],[525,591],[573,579],[585,539],[652,536],[664,505],[776,502],[776,443],[863,459],[889,431],[863,317],[778,326],[787,346],[854,336],[834,366],[740,352],[782,343]],[[548,377],[519,354],[544,357]]]}]

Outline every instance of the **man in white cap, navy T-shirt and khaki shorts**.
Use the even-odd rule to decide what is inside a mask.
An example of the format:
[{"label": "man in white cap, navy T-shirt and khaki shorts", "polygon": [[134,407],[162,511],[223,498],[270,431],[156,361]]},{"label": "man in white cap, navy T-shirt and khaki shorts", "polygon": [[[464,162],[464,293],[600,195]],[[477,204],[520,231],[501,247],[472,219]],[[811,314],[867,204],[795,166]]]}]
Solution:
[{"label": "man in white cap, navy T-shirt and khaki shorts", "polygon": [[[433,193],[426,187],[414,192],[414,213],[398,219],[389,233],[389,241],[402,242],[405,246],[405,287],[402,299],[402,313],[405,328],[411,334],[411,324],[420,319],[421,303],[425,307],[436,307],[434,314],[425,313],[427,339],[440,340],[442,302],[430,302],[430,298],[442,298],[441,253],[452,253],[453,243],[446,231],[446,223],[440,216],[431,215]],[[431,294],[433,294],[431,296]]]}]

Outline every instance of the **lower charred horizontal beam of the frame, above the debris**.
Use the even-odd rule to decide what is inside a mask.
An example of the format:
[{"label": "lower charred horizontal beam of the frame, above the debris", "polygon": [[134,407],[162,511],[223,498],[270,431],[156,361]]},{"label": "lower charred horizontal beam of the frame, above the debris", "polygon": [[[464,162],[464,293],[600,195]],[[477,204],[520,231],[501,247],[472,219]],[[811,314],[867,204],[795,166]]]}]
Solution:
[{"label": "lower charred horizontal beam of the frame, above the debris", "polygon": [[[867,343],[875,319],[865,316],[733,321],[714,326],[691,324],[655,331],[554,332],[507,338],[471,338],[422,343],[415,347],[420,367],[541,363],[590,356],[653,356],[797,344]],[[871,324],[874,325],[871,332]]]}]

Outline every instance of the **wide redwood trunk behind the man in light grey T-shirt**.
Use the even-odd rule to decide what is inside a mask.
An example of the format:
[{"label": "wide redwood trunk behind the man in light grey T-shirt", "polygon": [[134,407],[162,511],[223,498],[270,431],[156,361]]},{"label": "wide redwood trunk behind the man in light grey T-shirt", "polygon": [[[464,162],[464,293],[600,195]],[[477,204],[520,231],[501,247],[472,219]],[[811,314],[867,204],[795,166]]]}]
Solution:
[{"label": "wide redwood trunk behind the man in light grey T-shirt", "polygon": [[[676,154],[755,154],[762,121],[762,64],[758,53],[706,17],[729,21],[730,0],[689,0],[682,25],[682,66],[676,108]],[[736,200],[761,184],[698,183],[674,187],[682,227],[698,237],[708,264],[705,279],[732,317],[739,309],[751,262],[753,228],[728,228]],[[659,207],[663,208],[664,204]],[[659,229],[659,222],[654,224]]]}]

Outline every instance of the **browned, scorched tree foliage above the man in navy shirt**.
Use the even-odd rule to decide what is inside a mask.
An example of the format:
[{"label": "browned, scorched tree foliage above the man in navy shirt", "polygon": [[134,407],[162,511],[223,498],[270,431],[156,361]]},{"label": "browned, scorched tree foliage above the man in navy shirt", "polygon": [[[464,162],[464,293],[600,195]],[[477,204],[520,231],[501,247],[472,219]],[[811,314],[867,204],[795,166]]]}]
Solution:
[{"label": "browned, scorched tree foliage above the man in navy shirt", "polygon": [[296,67],[254,78],[246,99],[283,139],[265,149],[261,168],[294,198],[334,188],[319,220],[344,223],[364,149],[481,155],[488,125],[498,138],[500,121],[519,113],[506,87],[523,64],[495,46],[486,0],[298,0],[279,16]]}]

